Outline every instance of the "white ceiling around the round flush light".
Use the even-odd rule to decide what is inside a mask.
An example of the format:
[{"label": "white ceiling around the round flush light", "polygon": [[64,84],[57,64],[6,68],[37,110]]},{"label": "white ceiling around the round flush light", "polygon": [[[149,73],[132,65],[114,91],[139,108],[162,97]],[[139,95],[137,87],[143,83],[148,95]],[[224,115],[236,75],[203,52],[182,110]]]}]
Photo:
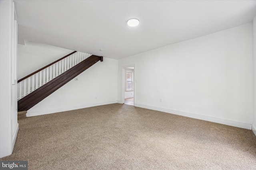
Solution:
[{"label": "white ceiling around the round flush light", "polygon": [[[19,39],[112,59],[249,23],[256,15],[256,0],[14,2]],[[140,24],[129,27],[130,18]]]}]

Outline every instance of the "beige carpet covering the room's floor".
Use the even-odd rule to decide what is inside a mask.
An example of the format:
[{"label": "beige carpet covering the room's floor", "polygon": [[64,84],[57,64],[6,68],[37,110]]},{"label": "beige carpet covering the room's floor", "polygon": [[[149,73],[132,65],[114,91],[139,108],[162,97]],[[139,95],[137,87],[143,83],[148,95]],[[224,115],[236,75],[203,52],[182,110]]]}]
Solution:
[{"label": "beige carpet covering the room's floor", "polygon": [[126,104],[18,121],[13,154],[29,170],[255,170],[251,130]]}]

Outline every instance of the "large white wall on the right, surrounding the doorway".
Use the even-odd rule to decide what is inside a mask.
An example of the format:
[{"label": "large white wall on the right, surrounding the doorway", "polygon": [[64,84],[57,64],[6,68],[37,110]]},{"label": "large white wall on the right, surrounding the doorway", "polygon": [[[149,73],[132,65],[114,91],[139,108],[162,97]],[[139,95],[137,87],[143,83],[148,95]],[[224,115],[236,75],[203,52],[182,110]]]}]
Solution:
[{"label": "large white wall on the right, surrounding the doorway", "polygon": [[118,60],[118,102],[130,64],[134,106],[252,128],[252,23]]}]

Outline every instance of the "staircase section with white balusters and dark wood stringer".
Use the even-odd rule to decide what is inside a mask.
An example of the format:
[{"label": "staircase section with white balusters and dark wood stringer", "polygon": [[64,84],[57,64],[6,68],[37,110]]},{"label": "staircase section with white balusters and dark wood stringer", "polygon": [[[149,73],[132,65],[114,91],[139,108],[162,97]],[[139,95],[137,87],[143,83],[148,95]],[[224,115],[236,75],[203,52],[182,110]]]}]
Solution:
[{"label": "staircase section with white balusters and dark wood stringer", "polygon": [[18,111],[27,111],[103,57],[72,52],[18,80]]}]

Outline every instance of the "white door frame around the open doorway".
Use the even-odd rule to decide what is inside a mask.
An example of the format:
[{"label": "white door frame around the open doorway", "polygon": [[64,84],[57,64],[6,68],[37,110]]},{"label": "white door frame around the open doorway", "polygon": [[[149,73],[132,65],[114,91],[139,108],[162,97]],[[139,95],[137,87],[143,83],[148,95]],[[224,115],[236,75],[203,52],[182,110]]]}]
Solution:
[{"label": "white door frame around the open doorway", "polygon": [[135,71],[135,64],[130,64],[130,65],[126,65],[126,66],[122,66],[122,82],[121,82],[121,103],[124,104],[124,91],[125,91],[125,69],[128,67],[134,67],[134,71],[133,71],[133,100],[134,100],[134,104],[135,104],[135,98],[136,98],[136,71]]}]

